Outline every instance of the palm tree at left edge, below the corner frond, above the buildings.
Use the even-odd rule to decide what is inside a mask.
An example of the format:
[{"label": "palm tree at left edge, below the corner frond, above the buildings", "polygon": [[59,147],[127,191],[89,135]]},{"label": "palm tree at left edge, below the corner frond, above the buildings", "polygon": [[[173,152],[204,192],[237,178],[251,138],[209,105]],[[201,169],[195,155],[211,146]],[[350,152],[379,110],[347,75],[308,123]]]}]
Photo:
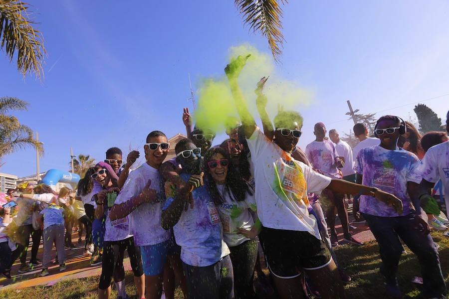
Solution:
[{"label": "palm tree at left edge, below the corner frond, above the buildings", "polygon": [[7,115],[11,110],[26,111],[27,107],[28,103],[25,101],[11,97],[0,98],[0,162],[4,155],[27,146],[43,152],[42,144],[33,137],[33,131],[20,124],[15,116]]}]

